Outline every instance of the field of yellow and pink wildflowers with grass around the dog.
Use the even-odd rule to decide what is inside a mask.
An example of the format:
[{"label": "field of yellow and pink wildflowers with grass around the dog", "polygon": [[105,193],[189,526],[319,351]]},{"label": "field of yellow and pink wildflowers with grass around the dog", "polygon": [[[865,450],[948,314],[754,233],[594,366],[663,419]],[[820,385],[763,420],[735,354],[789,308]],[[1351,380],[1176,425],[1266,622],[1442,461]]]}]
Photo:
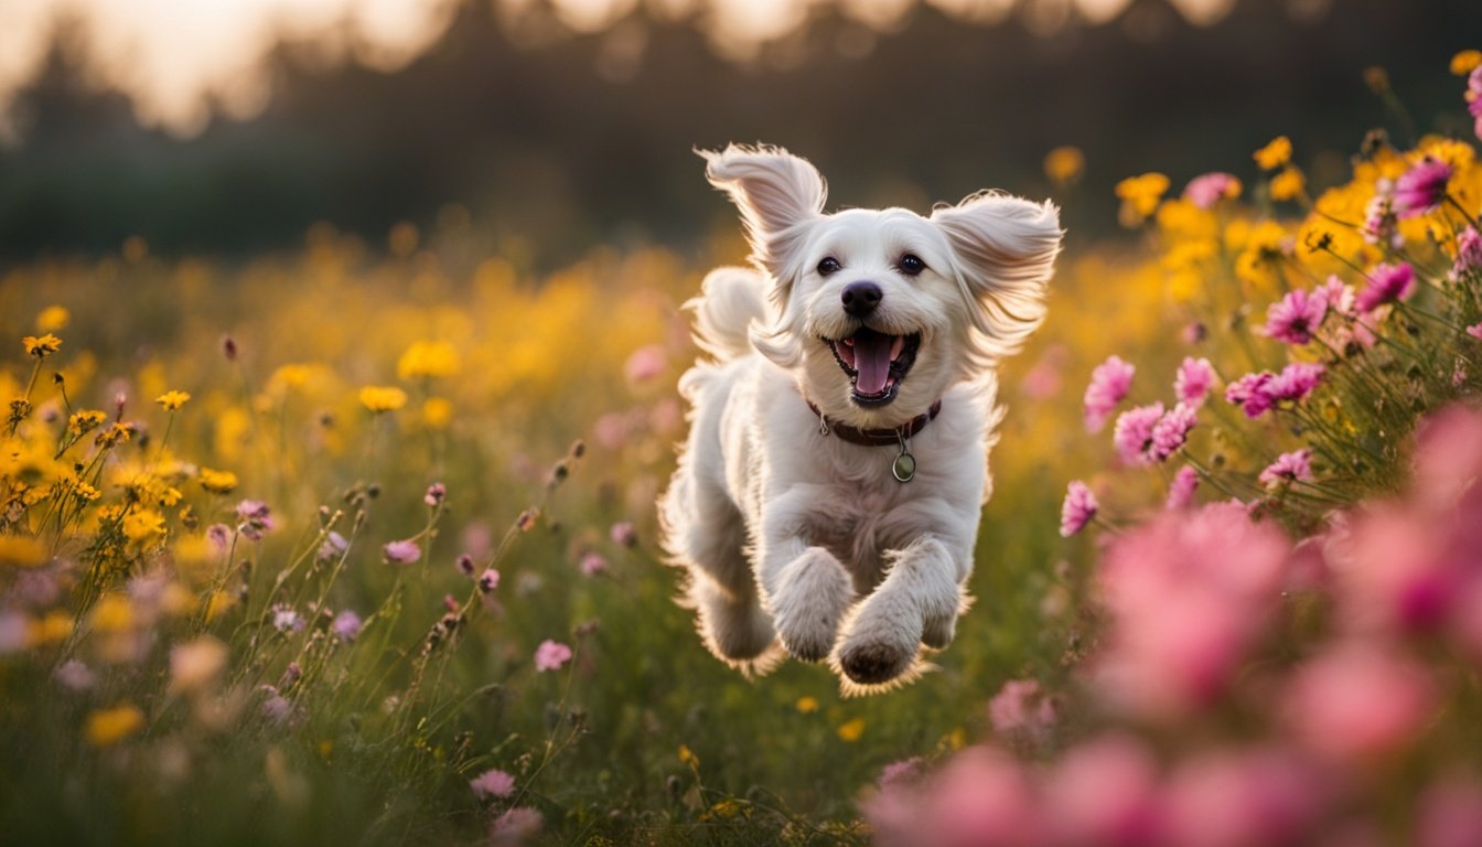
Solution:
[{"label": "field of yellow and pink wildflowers with grass around the dog", "polygon": [[1279,136],[1119,185],[1138,240],[1073,246],[1003,374],[978,602],[876,697],[728,670],[658,553],[679,304],[740,233],[7,271],[0,831],[1482,843],[1479,64],[1473,135],[1343,184]]}]

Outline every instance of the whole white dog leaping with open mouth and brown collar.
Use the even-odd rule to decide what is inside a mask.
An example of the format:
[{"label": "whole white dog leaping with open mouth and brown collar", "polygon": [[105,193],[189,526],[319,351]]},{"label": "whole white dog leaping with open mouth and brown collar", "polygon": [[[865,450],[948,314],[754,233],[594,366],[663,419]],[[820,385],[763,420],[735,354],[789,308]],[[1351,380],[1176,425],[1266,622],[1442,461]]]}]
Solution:
[{"label": "whole white dog leaping with open mouth and brown collar", "polygon": [[745,672],[785,650],[845,693],[910,681],[969,602],[993,368],[1043,317],[1058,212],[983,193],[824,214],[803,159],[701,156],[756,270],[717,268],[688,304],[714,359],[680,378],[691,432],[659,503],[686,604]]}]

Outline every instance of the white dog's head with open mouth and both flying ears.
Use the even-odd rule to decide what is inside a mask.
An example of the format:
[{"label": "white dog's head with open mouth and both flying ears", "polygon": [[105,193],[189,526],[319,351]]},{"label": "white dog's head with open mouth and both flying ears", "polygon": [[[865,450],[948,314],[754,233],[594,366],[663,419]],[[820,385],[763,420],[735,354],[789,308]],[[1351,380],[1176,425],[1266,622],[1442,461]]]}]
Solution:
[{"label": "white dog's head with open mouth and both flying ears", "polygon": [[929,218],[824,214],[823,177],[785,150],[701,156],[774,283],[772,325],[753,326],[751,341],[830,420],[900,426],[988,372],[1045,314],[1061,239],[1052,203],[983,193]]}]

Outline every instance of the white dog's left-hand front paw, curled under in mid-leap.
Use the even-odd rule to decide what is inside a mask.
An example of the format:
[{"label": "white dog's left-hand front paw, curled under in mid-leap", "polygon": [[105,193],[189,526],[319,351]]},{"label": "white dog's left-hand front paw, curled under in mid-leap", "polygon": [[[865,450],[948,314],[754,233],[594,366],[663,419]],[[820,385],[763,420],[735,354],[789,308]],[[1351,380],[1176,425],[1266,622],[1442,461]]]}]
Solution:
[{"label": "white dog's left-hand front paw, curled under in mid-leap", "polygon": [[839,559],[823,547],[805,550],[782,568],[771,596],[782,647],[803,662],[827,657],[852,599],[854,586]]}]

